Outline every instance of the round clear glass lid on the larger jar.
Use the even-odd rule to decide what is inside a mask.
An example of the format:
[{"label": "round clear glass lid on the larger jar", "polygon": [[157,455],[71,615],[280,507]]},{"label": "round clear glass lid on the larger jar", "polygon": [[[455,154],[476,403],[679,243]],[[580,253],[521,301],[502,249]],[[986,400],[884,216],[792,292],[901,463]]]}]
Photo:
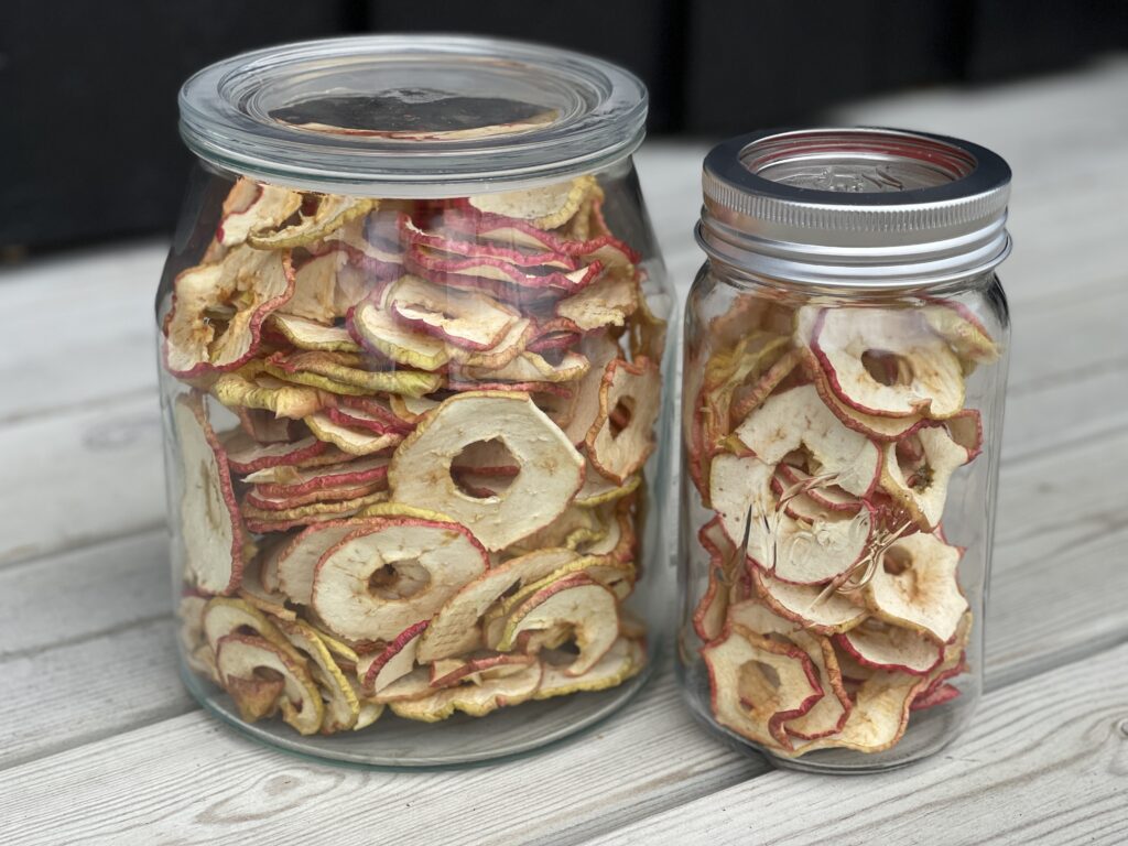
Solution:
[{"label": "round clear glass lid on the larger jar", "polygon": [[369,35],[217,62],[184,83],[179,109],[185,144],[220,169],[306,191],[435,197],[609,167],[642,142],[647,95],[633,73],[566,50]]}]

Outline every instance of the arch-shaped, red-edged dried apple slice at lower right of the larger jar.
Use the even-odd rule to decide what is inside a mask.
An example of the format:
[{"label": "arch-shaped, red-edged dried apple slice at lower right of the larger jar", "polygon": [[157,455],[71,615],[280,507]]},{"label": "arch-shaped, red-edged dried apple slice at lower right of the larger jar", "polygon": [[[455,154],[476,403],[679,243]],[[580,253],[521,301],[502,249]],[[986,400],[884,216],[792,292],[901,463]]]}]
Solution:
[{"label": "arch-shaped, red-edged dried apple slice at lower right of the larger jar", "polygon": [[497,650],[508,652],[525,632],[569,626],[579,655],[564,670],[582,676],[611,647],[619,634],[615,594],[584,571],[569,573],[529,596],[506,619]]}]

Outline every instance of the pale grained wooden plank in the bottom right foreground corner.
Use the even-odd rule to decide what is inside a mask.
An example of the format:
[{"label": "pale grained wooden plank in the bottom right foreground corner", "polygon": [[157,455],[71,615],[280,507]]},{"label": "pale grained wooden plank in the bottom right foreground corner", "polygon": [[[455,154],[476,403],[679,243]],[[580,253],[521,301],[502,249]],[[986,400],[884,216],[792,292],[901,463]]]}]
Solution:
[{"label": "pale grained wooden plank in the bottom right foreground corner", "polygon": [[1125,667],[1128,646],[989,694],[949,749],[900,772],[775,772],[589,843],[1122,844]]}]

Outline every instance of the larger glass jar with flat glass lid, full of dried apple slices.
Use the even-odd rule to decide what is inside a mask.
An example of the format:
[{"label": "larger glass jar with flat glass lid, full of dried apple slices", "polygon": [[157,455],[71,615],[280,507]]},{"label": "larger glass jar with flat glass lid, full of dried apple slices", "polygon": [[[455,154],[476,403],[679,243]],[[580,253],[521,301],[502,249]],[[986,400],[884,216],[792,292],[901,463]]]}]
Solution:
[{"label": "larger glass jar with flat glass lid, full of dried apple slices", "polygon": [[434,766],[642,685],[672,308],[645,116],[615,65],[477,38],[293,44],[185,83],[157,317],[182,670],[211,712]]}]

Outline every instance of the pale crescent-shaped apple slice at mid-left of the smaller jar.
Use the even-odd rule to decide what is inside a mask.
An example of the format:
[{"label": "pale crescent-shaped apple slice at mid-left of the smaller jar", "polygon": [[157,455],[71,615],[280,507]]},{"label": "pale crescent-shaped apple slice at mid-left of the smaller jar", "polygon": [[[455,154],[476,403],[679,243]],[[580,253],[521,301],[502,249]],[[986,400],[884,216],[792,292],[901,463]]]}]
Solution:
[{"label": "pale crescent-shaped apple slice at mid-left of the smaller jar", "polygon": [[778,508],[772,465],[752,456],[721,453],[710,472],[710,501],[729,539],[748,532],[748,555],[776,579],[796,584],[827,582],[849,571],[865,554],[873,532],[866,509],[828,511],[823,519],[797,520]]}]

